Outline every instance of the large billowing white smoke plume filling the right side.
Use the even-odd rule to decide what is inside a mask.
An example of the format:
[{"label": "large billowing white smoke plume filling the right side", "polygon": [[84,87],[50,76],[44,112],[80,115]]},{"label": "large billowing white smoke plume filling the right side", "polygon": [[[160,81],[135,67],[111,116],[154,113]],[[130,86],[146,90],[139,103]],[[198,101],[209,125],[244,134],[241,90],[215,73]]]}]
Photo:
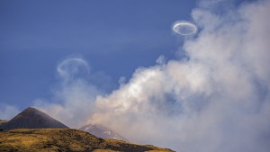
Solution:
[{"label": "large billowing white smoke plume filling the right side", "polygon": [[270,149],[270,1],[229,13],[193,10],[187,57],[138,68],[100,95],[89,121],[130,141],[185,152]]}]

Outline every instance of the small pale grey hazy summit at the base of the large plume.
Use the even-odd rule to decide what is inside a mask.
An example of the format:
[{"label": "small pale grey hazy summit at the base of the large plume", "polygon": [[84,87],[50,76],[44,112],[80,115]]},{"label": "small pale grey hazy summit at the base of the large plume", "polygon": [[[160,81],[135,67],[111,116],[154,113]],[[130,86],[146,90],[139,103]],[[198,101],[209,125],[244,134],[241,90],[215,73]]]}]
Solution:
[{"label": "small pale grey hazy summit at the base of the large plume", "polygon": [[79,130],[89,132],[93,134],[94,136],[102,138],[102,139],[119,139],[119,140],[128,141],[128,139],[123,138],[120,134],[114,132],[113,130],[110,130],[98,124],[88,124],[81,127]]}]

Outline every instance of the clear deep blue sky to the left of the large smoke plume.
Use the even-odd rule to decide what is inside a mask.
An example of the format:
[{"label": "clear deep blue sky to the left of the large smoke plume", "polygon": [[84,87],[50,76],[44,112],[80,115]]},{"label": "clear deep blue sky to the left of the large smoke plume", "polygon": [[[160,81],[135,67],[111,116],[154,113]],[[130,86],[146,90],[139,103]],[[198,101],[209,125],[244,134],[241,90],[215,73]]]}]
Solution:
[{"label": "clear deep blue sky to the left of the large smoke plume", "polygon": [[0,102],[25,108],[48,97],[63,58],[79,56],[94,71],[130,77],[160,55],[175,58],[172,23],[189,20],[194,1],[0,2]]}]

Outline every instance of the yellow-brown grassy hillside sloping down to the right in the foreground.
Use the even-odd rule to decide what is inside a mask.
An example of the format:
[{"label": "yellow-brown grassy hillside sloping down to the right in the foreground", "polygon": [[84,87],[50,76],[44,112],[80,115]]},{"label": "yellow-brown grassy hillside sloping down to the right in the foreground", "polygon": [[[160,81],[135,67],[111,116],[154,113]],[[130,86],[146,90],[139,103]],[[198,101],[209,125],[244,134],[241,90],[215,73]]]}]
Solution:
[{"label": "yellow-brown grassy hillside sloping down to the right in the foreground", "polygon": [[114,139],[99,139],[81,130],[19,129],[0,131],[0,151],[171,152],[172,150],[135,145]]}]

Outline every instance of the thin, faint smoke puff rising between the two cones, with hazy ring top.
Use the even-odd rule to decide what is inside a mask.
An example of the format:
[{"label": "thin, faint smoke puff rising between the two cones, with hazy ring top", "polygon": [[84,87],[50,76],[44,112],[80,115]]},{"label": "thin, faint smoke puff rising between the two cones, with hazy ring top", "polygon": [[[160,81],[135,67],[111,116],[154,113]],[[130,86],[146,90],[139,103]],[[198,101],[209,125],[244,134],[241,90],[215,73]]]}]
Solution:
[{"label": "thin, faint smoke puff rising between the two cones, with hazy ring top", "polygon": [[[103,94],[93,83],[88,63],[83,58],[66,58],[58,64],[58,84],[49,100],[37,99],[34,107],[65,123],[68,127],[85,125],[94,112],[97,94]],[[101,75],[100,75],[101,76]]]}]

